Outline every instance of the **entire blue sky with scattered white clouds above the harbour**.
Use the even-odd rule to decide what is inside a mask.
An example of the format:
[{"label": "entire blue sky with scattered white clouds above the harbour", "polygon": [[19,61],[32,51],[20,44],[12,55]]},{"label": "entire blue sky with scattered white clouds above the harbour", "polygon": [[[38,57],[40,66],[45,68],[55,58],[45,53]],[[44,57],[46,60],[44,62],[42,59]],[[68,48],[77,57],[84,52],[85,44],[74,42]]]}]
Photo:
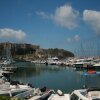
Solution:
[{"label": "entire blue sky with scattered white clouds above the harbour", "polygon": [[100,0],[0,0],[0,42],[100,55]]}]

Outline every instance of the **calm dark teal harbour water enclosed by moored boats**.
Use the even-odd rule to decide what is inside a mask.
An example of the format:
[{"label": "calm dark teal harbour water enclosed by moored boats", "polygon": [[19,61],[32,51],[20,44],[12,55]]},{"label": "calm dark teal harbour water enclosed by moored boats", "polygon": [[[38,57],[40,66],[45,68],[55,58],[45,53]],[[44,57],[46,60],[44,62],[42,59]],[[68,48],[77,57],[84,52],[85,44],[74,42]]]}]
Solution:
[{"label": "calm dark teal harbour water enclosed by moored boats", "polygon": [[87,87],[100,87],[100,75],[83,75],[82,72],[56,65],[40,65],[29,62],[16,63],[18,70],[11,75],[12,80],[30,83],[34,87],[44,86],[63,92],[72,92]]}]

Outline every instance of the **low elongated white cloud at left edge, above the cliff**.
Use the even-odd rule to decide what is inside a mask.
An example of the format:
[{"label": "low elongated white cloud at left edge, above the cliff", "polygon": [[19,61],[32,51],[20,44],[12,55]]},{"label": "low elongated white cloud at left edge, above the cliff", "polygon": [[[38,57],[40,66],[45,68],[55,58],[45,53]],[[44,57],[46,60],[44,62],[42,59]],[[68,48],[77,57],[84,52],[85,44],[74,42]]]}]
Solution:
[{"label": "low elongated white cloud at left edge, above the cliff", "polygon": [[17,40],[23,40],[26,37],[26,33],[22,30],[14,30],[10,28],[0,29],[0,38],[15,38]]}]

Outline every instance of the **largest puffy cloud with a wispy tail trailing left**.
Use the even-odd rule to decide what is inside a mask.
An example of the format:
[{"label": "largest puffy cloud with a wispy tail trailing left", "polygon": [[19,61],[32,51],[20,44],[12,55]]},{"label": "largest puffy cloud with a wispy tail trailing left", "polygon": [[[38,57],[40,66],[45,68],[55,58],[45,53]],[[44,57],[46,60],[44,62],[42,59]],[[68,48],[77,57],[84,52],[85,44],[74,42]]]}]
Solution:
[{"label": "largest puffy cloud with a wispy tail trailing left", "polygon": [[57,25],[67,29],[74,29],[78,26],[79,12],[73,9],[71,5],[63,5],[56,8],[54,14],[48,15],[45,12],[36,12],[36,14],[43,18],[51,19]]}]

